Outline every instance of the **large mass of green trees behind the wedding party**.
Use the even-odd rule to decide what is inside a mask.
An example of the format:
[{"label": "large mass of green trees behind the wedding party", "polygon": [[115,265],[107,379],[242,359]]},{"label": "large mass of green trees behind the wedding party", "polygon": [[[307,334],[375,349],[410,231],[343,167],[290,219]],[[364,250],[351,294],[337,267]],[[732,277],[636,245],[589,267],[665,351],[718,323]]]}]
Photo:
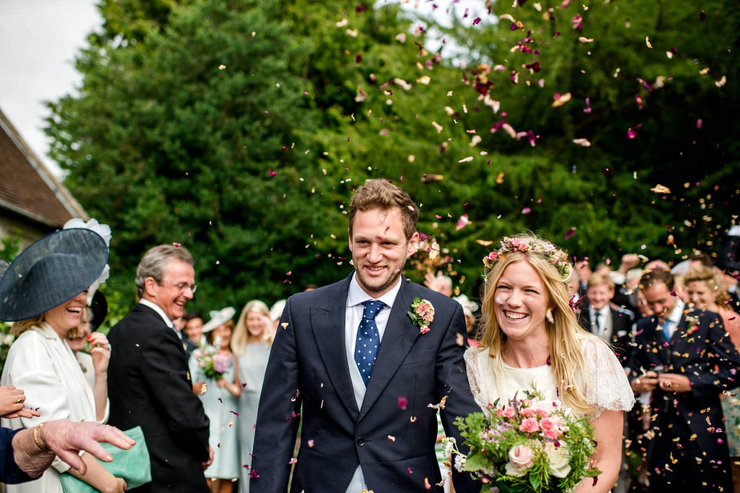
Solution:
[{"label": "large mass of green trees behind the wedding party", "polygon": [[731,2],[519,3],[440,27],[463,49],[447,59],[425,49],[434,21],[397,5],[101,1],[81,94],[50,104],[47,132],[112,227],[112,288],[133,293],[162,242],[195,254],[204,309],[339,279],[369,177],[421,205],[471,295],[490,242],[525,228],[593,259],[713,250],[738,194]]}]

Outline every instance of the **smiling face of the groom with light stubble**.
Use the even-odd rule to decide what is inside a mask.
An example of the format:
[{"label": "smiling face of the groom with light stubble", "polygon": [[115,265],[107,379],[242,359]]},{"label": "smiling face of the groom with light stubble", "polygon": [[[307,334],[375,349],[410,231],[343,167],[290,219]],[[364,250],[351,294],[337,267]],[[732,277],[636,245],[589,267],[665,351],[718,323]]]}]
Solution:
[{"label": "smiling face of the groom with light stubble", "polygon": [[418,233],[406,239],[398,208],[357,211],[349,238],[357,282],[370,296],[383,296],[396,284]]}]

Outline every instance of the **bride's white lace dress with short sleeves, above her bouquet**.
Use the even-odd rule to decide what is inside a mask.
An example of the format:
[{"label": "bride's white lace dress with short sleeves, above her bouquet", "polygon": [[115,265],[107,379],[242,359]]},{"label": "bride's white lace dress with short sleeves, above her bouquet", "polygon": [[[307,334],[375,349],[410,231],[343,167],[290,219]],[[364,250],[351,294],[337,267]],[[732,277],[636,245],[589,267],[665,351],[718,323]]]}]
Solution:
[{"label": "bride's white lace dress with short sleeves, above her bouquet", "polygon": [[[635,403],[634,393],[614,353],[601,340],[588,338],[583,343],[588,361],[588,378],[585,396],[596,407],[591,419],[596,419],[602,411],[629,411]],[[465,366],[468,368],[468,381],[478,406],[487,413],[488,404],[499,399],[499,406],[506,404],[514,394],[523,396],[534,383],[545,401],[560,399],[558,385],[551,367],[543,365],[535,368],[514,368],[504,364],[502,375],[494,378],[493,360],[488,349],[470,347],[465,351]]]}]

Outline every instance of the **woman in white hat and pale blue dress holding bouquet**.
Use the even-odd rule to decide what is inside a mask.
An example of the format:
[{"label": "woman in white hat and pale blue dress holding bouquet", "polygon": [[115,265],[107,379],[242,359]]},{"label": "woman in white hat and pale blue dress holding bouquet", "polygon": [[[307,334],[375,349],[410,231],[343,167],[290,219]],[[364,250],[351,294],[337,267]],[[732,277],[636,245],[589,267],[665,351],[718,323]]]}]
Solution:
[{"label": "woman in white hat and pale blue dress holding bouquet", "polygon": [[239,364],[230,347],[235,313],[233,307],[210,313],[211,319],[203,325],[203,333],[215,353],[204,355],[200,349],[195,350],[189,363],[190,375],[195,382],[193,390],[203,401],[203,409],[211,422],[209,441],[215,450],[213,462],[204,474],[209,486],[219,480],[218,486],[212,487],[219,493],[232,492],[241,469],[237,426],[240,424],[241,384]]}]

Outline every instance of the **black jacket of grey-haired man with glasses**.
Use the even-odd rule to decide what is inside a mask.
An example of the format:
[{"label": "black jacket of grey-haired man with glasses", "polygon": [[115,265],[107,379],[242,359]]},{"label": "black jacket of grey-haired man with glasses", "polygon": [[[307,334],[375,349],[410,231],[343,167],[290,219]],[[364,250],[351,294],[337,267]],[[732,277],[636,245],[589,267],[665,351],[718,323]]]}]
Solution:
[{"label": "black jacket of grey-haired man with glasses", "polygon": [[141,426],[152,482],[136,492],[209,492],[209,421],[192,392],[183,342],[151,308],[136,305],[108,334],[110,419],[120,429]]}]

